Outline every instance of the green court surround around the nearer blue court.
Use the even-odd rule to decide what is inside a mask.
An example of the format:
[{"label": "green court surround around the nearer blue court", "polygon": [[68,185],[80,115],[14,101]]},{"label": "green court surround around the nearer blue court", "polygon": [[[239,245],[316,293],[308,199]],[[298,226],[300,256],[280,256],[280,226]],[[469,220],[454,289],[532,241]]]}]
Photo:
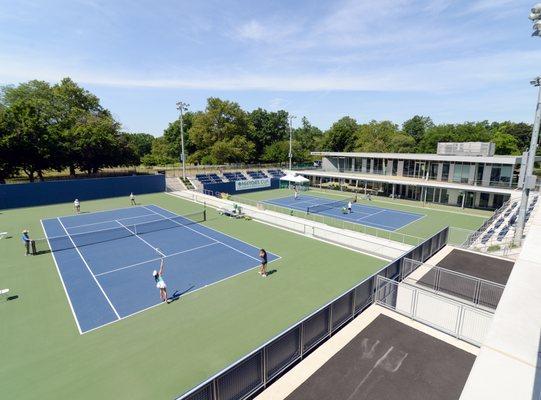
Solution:
[{"label": "green court surround around the nearer blue court", "polygon": [[[201,206],[167,194],[138,196],[177,214]],[[84,202],[83,211],[128,206]],[[40,219],[71,204],[0,212],[0,388],[9,399],[171,399],[263,344],[386,264],[385,261],[208,211],[206,225],[282,258],[262,279],[248,271],[79,335],[51,254],[25,257],[19,233],[42,237]],[[149,284],[153,284],[149,280]],[[156,293],[158,296],[158,293]]]}]

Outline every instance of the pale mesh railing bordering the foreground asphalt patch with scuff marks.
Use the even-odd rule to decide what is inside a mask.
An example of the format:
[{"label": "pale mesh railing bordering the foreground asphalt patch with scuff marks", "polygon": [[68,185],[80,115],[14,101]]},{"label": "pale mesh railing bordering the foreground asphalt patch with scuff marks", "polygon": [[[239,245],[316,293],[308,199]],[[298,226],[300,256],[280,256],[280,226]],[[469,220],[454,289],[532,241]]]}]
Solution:
[{"label": "pale mesh railing bordering the foreground asphalt patch with scuff marks", "polygon": [[383,276],[377,277],[376,304],[480,346],[493,314]]}]

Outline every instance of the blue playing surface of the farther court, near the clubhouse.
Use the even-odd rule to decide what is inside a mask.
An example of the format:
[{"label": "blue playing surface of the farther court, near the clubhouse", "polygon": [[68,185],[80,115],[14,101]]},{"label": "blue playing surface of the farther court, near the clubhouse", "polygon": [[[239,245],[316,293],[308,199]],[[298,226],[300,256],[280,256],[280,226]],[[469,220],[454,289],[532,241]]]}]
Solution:
[{"label": "blue playing surface of the farther court, near the clubhouse", "polygon": [[[297,200],[295,200],[294,196],[289,196],[265,200],[264,202],[293,210],[307,211],[309,207],[322,206],[333,201],[334,199],[301,194]],[[397,229],[403,228],[424,217],[423,214],[390,210],[358,203],[353,203],[351,214],[344,214],[342,212],[342,207],[343,205],[337,205],[336,207],[329,209],[324,209],[325,207],[322,207],[323,210],[317,211],[317,214],[388,231],[396,231]]]}]

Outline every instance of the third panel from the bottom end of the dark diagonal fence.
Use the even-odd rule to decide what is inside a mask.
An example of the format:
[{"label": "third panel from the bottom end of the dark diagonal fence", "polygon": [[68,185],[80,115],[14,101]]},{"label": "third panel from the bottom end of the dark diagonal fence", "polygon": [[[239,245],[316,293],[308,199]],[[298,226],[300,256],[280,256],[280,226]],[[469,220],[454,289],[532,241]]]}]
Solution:
[{"label": "third panel from the bottom end of the dark diagonal fence", "polygon": [[265,351],[267,380],[270,380],[301,357],[301,326],[271,342]]}]

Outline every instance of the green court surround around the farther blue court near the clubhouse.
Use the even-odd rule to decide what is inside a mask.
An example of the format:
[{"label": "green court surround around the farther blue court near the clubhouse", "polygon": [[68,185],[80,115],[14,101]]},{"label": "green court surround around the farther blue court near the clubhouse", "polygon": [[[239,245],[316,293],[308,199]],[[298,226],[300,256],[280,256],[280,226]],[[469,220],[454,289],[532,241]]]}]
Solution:
[{"label": "green court surround around the farther blue court near the clubhouse", "polygon": [[[291,196],[293,192],[289,189],[274,189],[260,192],[246,193],[242,196],[233,196],[233,199],[247,204],[253,204],[254,201],[263,201],[276,199],[280,197]],[[337,191],[311,189],[308,194],[310,196],[321,196],[332,200],[345,199],[353,197],[352,193],[341,193]],[[302,196],[302,193],[301,193]],[[310,218],[315,221],[323,222],[328,225],[337,226],[340,228],[355,230],[367,233],[373,236],[389,238],[398,242],[409,243],[416,245],[423,239],[426,239],[446,226],[451,227],[449,243],[463,243],[467,236],[492,215],[490,211],[460,209],[458,207],[442,206],[427,204],[421,205],[418,201],[388,199],[384,197],[372,197],[372,201],[358,197],[359,204],[367,204],[381,208],[392,210],[409,211],[425,215],[409,225],[404,226],[394,232],[368,227],[349,221],[329,217],[320,214],[310,214],[301,211],[293,211],[287,208],[276,206],[273,204],[264,204],[264,207],[269,210],[279,211],[286,214],[292,214],[303,218]]]}]

